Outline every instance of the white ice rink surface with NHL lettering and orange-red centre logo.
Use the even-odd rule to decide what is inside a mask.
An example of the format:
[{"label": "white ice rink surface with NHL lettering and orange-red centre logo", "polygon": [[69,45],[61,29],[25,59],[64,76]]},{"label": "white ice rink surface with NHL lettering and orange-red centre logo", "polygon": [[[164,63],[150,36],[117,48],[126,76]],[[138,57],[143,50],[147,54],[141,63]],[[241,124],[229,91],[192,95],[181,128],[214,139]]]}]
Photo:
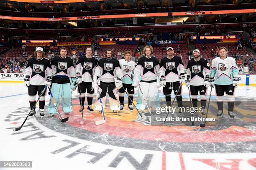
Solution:
[{"label": "white ice rink surface with NHL lettering and orange-red centre logo", "polygon": [[[189,100],[185,85],[182,96]],[[69,121],[60,123],[48,114],[41,119],[37,112],[20,131],[13,132],[30,111],[27,89],[23,83],[1,83],[0,161],[32,161],[32,168],[22,170],[256,170],[256,87],[239,86],[235,96],[235,119],[227,117],[225,98],[225,116],[219,120],[212,90],[208,116],[216,120],[205,128],[200,128],[200,121],[195,126],[154,125],[141,119],[135,109],[128,110],[127,104],[117,113],[107,105],[107,122],[96,126],[102,115],[86,109],[84,125],[80,125],[79,94],[73,92],[74,112],[64,114],[60,109]],[[160,97],[164,105],[164,95]],[[48,101],[49,95],[46,108]],[[147,110],[141,114],[148,117]]]}]

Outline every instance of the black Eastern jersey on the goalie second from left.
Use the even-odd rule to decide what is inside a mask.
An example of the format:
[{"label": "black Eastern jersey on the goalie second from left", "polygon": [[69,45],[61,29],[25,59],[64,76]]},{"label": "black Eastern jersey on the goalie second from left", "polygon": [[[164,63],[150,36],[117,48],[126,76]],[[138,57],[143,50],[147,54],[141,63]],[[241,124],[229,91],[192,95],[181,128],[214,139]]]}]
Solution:
[{"label": "black Eastern jersey on the goalie second from left", "polygon": [[[74,68],[74,62],[71,58],[60,56],[54,57],[51,60],[51,67],[53,68],[53,82],[60,78],[74,78],[76,77],[76,70]],[[67,80],[69,82],[69,79]],[[56,83],[58,83],[57,81]],[[63,82],[64,83],[64,82]]]}]

